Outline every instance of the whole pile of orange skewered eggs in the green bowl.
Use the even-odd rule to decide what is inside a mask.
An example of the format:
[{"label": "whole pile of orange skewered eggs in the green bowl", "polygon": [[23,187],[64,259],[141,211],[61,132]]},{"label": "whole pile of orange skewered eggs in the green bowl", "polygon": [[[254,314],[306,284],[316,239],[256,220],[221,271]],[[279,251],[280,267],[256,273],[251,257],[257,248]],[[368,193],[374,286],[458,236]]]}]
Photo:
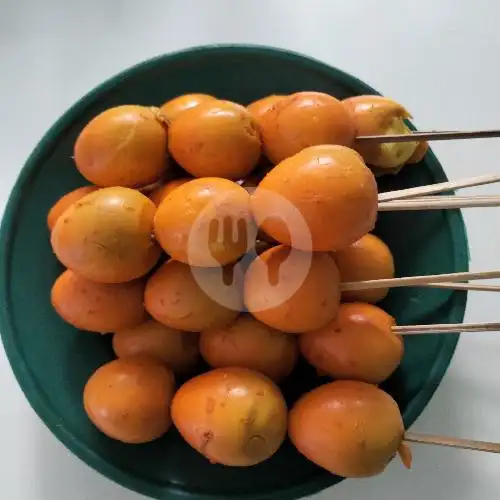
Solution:
[{"label": "whole pile of orange skewered eggs in the green bowl", "polygon": [[[93,424],[145,443],[173,423],[227,466],[263,462],[287,433],[345,477],[378,474],[397,452],[409,462],[398,406],[377,388],[403,356],[393,318],[374,305],[387,290],[340,291],[394,276],[370,234],[375,175],[427,146],[355,139],[410,133],[408,116],[384,97],[298,92],[247,107],[189,94],[93,118],[74,147],[91,185],[48,215],[66,268],[53,307],[113,334],[117,359],[83,394]],[[189,379],[200,355],[213,370]],[[336,381],[288,409],[278,384],[299,355]],[[188,381],[176,387],[176,376]]]}]

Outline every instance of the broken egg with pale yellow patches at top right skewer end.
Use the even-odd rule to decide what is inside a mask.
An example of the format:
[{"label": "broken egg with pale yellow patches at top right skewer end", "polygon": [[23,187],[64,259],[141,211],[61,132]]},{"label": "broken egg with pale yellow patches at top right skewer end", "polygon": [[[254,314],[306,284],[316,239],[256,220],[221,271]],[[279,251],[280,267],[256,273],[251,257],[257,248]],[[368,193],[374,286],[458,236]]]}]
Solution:
[{"label": "broken egg with pale yellow patches at top right skewer end", "polygon": [[[354,120],[357,135],[411,134],[405,120],[410,113],[399,103],[377,95],[349,97],[342,101]],[[355,143],[366,163],[379,169],[397,169],[415,153],[417,142]],[[383,171],[383,170],[382,170]]]}]

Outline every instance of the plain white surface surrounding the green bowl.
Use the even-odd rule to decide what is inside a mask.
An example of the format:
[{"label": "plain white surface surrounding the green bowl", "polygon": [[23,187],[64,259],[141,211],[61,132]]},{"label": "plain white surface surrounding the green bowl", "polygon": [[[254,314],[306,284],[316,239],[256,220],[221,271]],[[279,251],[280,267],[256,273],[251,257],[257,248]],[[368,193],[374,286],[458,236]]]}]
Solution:
[{"label": "plain white surface surrounding the green bowl", "polygon": [[[498,19],[498,0],[0,0],[0,204],[40,136],[82,94],[145,58],[204,43],[260,43],[312,55],[403,102],[421,129],[498,128]],[[498,139],[434,150],[452,179],[500,169]],[[471,269],[499,267],[499,213],[466,211]],[[495,300],[472,294],[467,319],[499,321]],[[500,441],[499,359],[495,334],[462,338],[414,429]],[[56,441],[28,406],[3,351],[0,394],[0,497],[140,498]],[[499,471],[497,455],[415,446],[413,471],[393,464],[380,477],[347,481],[321,498],[493,499]]]}]

